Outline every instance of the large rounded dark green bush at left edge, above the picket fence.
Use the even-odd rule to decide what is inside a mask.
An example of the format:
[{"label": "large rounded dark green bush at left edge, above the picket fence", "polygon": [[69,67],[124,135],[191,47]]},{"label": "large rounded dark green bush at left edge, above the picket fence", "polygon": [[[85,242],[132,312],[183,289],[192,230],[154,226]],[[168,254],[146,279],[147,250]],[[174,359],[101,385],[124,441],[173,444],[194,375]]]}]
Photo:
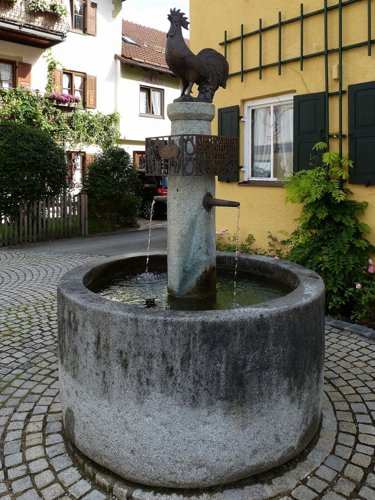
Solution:
[{"label": "large rounded dark green bush at left edge, above the picket fence", "polygon": [[0,119],[0,210],[55,195],[67,186],[65,154],[47,133]]}]

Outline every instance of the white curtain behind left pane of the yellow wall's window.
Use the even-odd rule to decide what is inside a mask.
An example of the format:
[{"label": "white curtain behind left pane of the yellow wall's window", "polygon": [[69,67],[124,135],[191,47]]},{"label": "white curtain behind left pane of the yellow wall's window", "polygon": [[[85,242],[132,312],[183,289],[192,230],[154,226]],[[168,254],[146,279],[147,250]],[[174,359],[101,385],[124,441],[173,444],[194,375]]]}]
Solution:
[{"label": "white curtain behind left pane of the yellow wall's window", "polygon": [[252,110],[252,177],[271,176],[271,108]]}]

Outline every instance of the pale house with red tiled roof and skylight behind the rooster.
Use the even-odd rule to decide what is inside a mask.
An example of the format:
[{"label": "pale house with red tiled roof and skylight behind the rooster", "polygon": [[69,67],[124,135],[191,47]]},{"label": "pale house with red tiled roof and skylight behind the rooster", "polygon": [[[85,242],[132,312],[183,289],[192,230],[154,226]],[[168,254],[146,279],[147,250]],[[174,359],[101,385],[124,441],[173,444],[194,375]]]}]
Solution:
[{"label": "pale house with red tiled roof and skylight behind the rooster", "polygon": [[164,31],[123,20],[121,42],[115,55],[119,142],[142,166],[145,137],[170,135],[166,106],[180,95],[179,78],[165,62]]}]

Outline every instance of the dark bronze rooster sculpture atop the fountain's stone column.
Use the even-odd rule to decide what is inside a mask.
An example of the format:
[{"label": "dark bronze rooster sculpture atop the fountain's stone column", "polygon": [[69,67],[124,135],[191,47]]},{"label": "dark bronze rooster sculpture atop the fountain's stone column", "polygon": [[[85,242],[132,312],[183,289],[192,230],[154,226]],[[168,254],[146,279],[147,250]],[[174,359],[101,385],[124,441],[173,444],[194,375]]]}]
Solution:
[{"label": "dark bronze rooster sculpture atop the fountain's stone column", "polygon": [[[186,45],[181,26],[189,24],[179,9],[170,9],[170,28],[166,34],[165,61],[169,69],[182,81],[182,92],[175,100],[203,100],[212,102],[219,86],[225,88],[229,66],[223,55],[213,48],[203,48],[196,55]],[[197,98],[191,97],[193,84],[198,85]],[[186,91],[187,90],[187,91]]]}]

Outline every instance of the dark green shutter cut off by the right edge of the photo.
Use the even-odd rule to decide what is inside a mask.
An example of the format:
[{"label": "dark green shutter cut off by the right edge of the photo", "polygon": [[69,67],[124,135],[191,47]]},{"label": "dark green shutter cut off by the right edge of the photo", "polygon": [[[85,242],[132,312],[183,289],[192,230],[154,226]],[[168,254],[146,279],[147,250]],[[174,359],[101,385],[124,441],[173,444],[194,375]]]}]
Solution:
[{"label": "dark green shutter cut off by the right edge of the photo", "polygon": [[350,184],[375,184],[375,81],[348,85]]}]

